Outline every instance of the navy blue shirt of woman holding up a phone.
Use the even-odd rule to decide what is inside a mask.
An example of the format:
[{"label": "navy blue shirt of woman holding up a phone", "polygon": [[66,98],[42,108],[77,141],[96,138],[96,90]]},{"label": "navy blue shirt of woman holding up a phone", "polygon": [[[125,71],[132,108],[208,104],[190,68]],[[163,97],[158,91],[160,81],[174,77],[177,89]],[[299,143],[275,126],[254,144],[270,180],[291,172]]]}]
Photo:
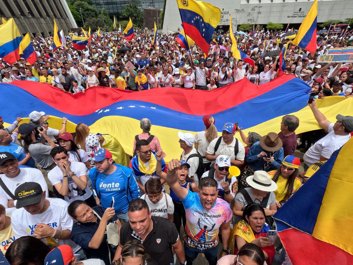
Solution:
[{"label": "navy blue shirt of woman holding up a phone", "polygon": [[[92,208],[100,217],[103,216],[105,209],[101,206],[95,206]],[[107,224],[114,222],[118,217],[115,215],[112,219],[108,221]],[[99,248],[89,248],[88,244],[92,240],[95,232],[98,229],[100,224],[100,219],[97,218],[97,223],[80,223],[75,222],[72,225],[71,230],[71,240],[77,245],[83,248],[86,253],[87,258],[89,259],[101,259],[105,264],[110,264],[109,262],[109,248],[107,245],[107,235],[104,234],[103,240]],[[114,256],[114,253],[110,253],[111,256]]]}]

